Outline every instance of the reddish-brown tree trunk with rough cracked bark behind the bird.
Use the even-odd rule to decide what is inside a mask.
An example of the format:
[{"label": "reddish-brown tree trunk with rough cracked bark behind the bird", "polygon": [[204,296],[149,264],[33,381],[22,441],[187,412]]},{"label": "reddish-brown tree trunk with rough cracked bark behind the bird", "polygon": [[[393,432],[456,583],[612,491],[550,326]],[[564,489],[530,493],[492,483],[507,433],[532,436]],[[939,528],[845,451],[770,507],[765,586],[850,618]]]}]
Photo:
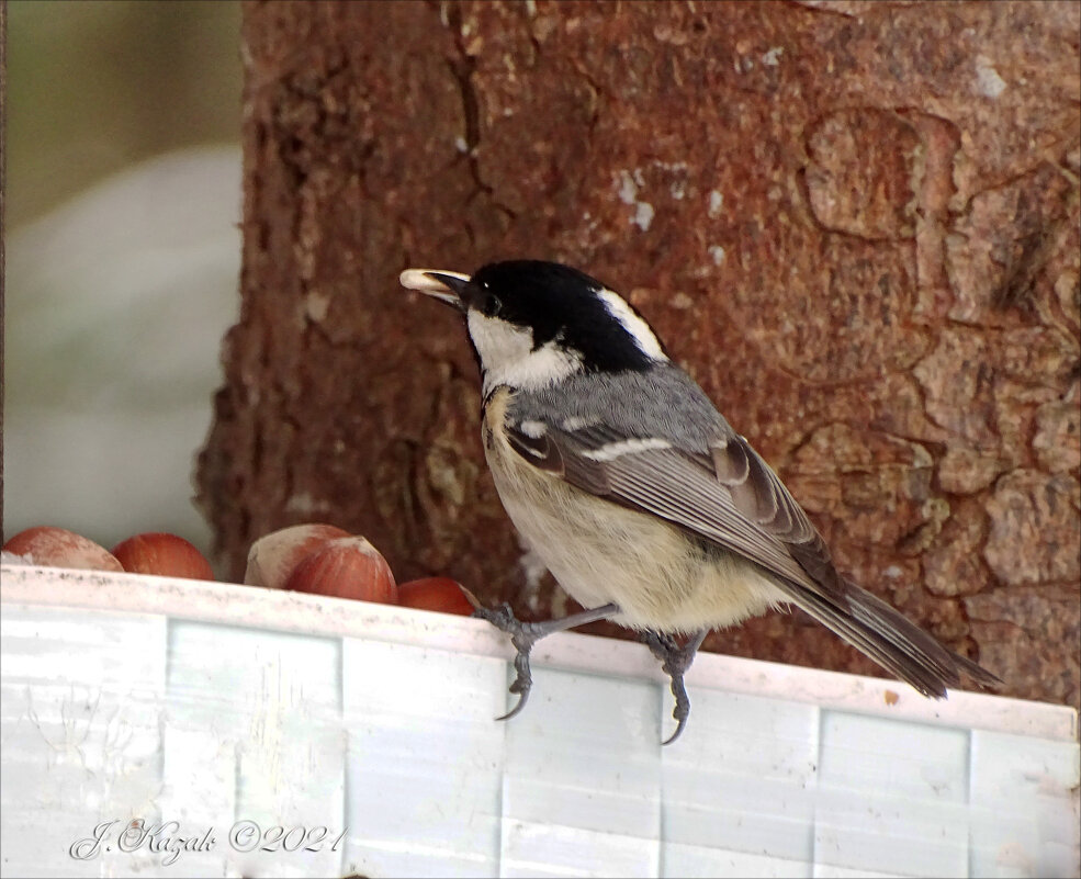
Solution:
[{"label": "reddish-brown tree trunk with rough cracked bark behind the bird", "polygon": [[[198,476],[233,573],[323,520],[562,612],[462,327],[396,281],[553,258],[658,327],[857,582],[1077,706],[1079,9],[246,5],[243,316]],[[799,617],[708,647],[877,670]]]}]

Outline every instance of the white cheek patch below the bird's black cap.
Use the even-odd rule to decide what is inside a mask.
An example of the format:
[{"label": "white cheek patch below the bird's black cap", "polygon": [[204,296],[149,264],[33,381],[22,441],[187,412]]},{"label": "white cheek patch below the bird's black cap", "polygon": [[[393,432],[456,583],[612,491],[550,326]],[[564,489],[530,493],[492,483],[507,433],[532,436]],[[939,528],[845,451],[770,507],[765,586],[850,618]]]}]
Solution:
[{"label": "white cheek patch below the bird's black cap", "polygon": [[499,318],[469,313],[470,338],[484,368],[484,393],[502,384],[540,390],[582,369],[582,358],[555,341],[533,350],[533,334]]}]

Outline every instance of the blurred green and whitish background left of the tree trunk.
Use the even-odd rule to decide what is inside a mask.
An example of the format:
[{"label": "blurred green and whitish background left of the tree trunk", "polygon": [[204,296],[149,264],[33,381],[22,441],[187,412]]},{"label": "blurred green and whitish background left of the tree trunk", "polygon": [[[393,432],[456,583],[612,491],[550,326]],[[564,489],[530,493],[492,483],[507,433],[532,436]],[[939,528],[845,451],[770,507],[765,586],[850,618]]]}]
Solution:
[{"label": "blurred green and whitish background left of the tree trunk", "polygon": [[236,319],[236,0],[8,5],[4,536],[204,552],[194,454]]}]

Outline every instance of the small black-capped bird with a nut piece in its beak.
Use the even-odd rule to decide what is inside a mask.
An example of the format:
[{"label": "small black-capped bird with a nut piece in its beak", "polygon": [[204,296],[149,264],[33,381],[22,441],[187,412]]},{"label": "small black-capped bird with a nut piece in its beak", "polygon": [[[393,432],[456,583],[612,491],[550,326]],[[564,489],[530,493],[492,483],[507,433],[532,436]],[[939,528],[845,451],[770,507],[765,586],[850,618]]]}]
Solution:
[{"label": "small black-capped bird with a nut piece in its beak", "polygon": [[[961,673],[1001,683],[847,581],[807,514],[619,294],[556,262],[474,274],[408,269],[402,285],[459,309],[481,367],[481,435],[504,508],[586,610],[521,622],[476,612],[517,650],[517,714],[544,635],[596,620],[641,633],[668,675],[675,732],[684,675],[712,629],[795,605],[924,696]],[[684,644],[677,641],[687,635]]]}]

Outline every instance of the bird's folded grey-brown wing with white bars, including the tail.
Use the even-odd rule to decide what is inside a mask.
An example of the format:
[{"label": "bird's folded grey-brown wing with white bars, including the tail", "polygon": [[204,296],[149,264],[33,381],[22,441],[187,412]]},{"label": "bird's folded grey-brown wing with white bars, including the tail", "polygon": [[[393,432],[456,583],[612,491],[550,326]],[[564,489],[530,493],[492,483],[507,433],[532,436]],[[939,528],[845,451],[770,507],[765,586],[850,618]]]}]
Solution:
[{"label": "bird's folded grey-brown wing with white bars, including the tail", "polygon": [[[944,696],[960,683],[960,670],[981,686],[998,680],[844,579],[777,474],[698,386],[689,379],[678,388],[663,384],[660,394],[645,392],[634,425],[605,412],[611,394],[575,394],[574,405],[554,406],[534,395],[508,408],[507,438],[533,466],[754,562],[792,604],[926,696]],[[700,395],[690,404],[688,386]],[[673,399],[682,402],[675,412]],[[708,410],[686,412],[702,401]],[[694,424],[680,425],[680,418]]]}]

